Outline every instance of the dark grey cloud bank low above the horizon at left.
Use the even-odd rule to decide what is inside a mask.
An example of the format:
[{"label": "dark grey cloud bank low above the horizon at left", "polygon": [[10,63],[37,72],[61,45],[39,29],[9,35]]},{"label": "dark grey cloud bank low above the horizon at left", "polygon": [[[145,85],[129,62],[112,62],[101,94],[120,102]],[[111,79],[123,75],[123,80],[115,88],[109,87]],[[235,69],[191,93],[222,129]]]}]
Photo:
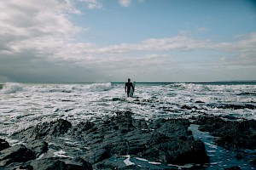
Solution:
[{"label": "dark grey cloud bank low above the horizon at left", "polygon": [[[5,80],[15,82],[102,82],[104,77],[96,69],[73,64],[72,61],[55,61],[35,57],[31,52],[1,57],[0,73]],[[0,80],[1,81],[1,80]],[[3,81],[3,80],[2,80]]]}]

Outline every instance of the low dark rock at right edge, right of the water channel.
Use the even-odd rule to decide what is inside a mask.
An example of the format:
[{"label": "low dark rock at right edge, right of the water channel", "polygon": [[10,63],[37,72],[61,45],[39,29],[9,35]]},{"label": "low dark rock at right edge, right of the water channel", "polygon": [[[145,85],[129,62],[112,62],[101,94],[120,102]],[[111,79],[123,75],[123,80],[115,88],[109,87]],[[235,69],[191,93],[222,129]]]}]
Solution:
[{"label": "low dark rock at right edge, right of the water channel", "polygon": [[201,116],[196,123],[201,125],[199,130],[218,137],[215,143],[224,148],[256,149],[255,120],[241,122],[224,120],[218,116]]}]

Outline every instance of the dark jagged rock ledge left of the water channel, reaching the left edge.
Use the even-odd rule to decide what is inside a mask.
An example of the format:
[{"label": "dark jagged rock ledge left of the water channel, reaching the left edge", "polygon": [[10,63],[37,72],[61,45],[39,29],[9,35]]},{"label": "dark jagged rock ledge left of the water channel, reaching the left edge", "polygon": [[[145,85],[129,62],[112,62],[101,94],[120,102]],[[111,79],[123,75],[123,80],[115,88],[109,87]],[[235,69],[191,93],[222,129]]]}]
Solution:
[{"label": "dark jagged rock ledge left of the water channel, reaching the left edge", "polygon": [[9,146],[2,141],[0,166],[29,170],[146,169],[118,160],[131,156],[166,167],[206,167],[209,157],[205,145],[194,139],[189,124],[185,119],[136,120],[129,111],[76,126],[62,119],[44,122],[12,136],[24,144]]}]

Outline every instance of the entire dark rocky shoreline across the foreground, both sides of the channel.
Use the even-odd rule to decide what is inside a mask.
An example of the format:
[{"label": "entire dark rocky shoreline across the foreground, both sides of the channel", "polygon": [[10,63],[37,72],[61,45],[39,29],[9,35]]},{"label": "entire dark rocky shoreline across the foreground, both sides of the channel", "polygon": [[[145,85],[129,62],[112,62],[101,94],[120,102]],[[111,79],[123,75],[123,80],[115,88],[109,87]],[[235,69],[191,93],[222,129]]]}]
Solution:
[{"label": "entire dark rocky shoreline across the foreground, both sides of the channel", "polygon": [[[200,116],[145,121],[125,111],[75,126],[63,119],[39,123],[11,136],[20,144],[0,139],[0,169],[205,169],[210,159],[204,142],[189,130],[192,123],[218,137],[215,144],[227,150],[256,150],[253,120]],[[236,159],[247,159],[253,167],[255,156],[243,151]]]}]

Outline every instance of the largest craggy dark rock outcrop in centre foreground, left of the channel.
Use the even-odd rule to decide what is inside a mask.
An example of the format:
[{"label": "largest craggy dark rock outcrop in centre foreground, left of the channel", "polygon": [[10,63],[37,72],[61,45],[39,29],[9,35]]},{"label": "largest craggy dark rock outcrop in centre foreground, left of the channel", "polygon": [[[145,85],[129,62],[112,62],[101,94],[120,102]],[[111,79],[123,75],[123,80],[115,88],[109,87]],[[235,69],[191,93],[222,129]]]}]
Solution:
[{"label": "largest craggy dark rock outcrop in centre foreground, left of the channel", "polygon": [[188,120],[159,119],[147,125],[131,116],[128,111],[119,112],[109,121],[97,123],[81,133],[84,144],[90,147],[84,159],[101,166],[98,162],[114,155],[141,156],[180,165],[209,162],[203,142],[195,140],[188,131]]}]

